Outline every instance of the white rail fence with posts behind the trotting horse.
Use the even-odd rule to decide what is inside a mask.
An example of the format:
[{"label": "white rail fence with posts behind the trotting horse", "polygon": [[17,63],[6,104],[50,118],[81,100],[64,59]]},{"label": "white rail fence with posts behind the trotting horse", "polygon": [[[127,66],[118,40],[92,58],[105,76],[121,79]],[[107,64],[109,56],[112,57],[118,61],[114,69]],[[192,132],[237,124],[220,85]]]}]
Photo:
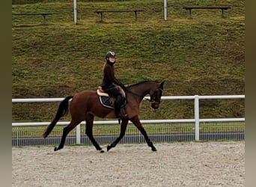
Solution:
[{"label": "white rail fence with posts behind the trotting horse", "polygon": [[[12,99],[12,102],[59,102],[64,98],[37,98],[37,99]],[[149,99],[145,96],[144,99]],[[141,123],[195,123],[195,141],[200,140],[200,123],[201,122],[244,122],[245,118],[219,118],[219,119],[201,119],[199,116],[200,99],[245,99],[245,95],[231,96],[162,96],[164,100],[193,99],[194,100],[194,119],[180,120],[141,120]],[[46,126],[50,122],[33,122],[33,123],[12,123],[12,126]],[[69,122],[58,122],[57,125],[67,125]],[[85,122],[81,123],[84,124]],[[80,125],[81,125],[80,124]],[[94,124],[118,124],[117,120],[94,121]],[[76,126],[76,144],[81,144],[80,125]]]}]

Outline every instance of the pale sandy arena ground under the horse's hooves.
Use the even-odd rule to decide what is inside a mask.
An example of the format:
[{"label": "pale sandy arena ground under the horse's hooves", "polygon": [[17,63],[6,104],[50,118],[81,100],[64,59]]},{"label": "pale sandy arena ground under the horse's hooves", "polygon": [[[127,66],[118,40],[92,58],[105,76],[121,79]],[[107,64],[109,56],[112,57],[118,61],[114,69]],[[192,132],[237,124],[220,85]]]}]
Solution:
[{"label": "pale sandy arena ground under the horse's hooves", "polygon": [[245,186],[244,141],[155,146],[13,147],[12,186]]}]

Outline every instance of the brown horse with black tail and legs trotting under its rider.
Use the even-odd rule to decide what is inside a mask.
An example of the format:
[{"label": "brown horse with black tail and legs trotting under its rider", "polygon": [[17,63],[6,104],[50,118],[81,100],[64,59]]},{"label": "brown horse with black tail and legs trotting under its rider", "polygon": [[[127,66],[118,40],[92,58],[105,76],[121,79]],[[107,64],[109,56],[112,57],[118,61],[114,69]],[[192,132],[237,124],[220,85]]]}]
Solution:
[{"label": "brown horse with black tail and legs trotting under its rider", "polygon": [[[151,102],[151,107],[154,109],[159,108],[163,84],[164,82],[159,83],[154,81],[144,81],[127,87],[127,103],[124,106],[124,110],[127,116],[122,119],[121,132],[119,137],[112,144],[108,145],[107,151],[109,151],[112,147],[115,147],[118,142],[121,141],[121,138],[124,137],[129,120],[138,128],[141,134],[144,135],[147,145],[151,147],[151,150],[156,151],[156,147],[153,146],[153,143],[147,136],[147,132],[141,125],[141,122],[138,118],[138,113],[140,103],[144,96],[146,96],[147,94],[150,95],[150,99],[148,100]],[[67,113],[70,99],[72,99],[70,102],[70,114],[72,119],[70,124],[64,127],[61,143],[58,147],[55,147],[54,150],[61,150],[64,147],[64,142],[66,140],[67,134],[77,125],[79,125],[79,123],[85,120],[86,135],[88,135],[88,138],[90,138],[92,144],[94,144],[94,147],[101,153],[103,153],[104,151],[94,139],[92,133],[94,116],[102,118],[115,118],[115,111],[112,108],[106,108],[105,106],[101,105],[99,96],[97,95],[96,91],[82,91],[74,94],[73,96],[67,96],[63,101],[61,101],[58,107],[57,114],[55,114],[55,118],[52,120],[52,123],[49,124],[46,131],[43,133],[43,138],[46,138],[49,133],[52,132],[52,129],[54,128],[58,120],[60,120],[61,117],[63,117],[64,114]]]}]

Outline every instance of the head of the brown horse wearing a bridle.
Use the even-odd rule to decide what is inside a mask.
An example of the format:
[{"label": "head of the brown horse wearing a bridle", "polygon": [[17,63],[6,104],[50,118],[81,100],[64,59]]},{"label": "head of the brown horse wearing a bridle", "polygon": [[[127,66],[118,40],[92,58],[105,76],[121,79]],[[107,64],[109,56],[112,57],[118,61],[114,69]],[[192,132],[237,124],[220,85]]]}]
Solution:
[{"label": "head of the brown horse wearing a bridle", "polygon": [[165,83],[164,81],[161,82],[160,84],[158,83],[158,88],[150,91],[150,102],[151,102],[151,107],[153,109],[159,108],[164,83]]}]

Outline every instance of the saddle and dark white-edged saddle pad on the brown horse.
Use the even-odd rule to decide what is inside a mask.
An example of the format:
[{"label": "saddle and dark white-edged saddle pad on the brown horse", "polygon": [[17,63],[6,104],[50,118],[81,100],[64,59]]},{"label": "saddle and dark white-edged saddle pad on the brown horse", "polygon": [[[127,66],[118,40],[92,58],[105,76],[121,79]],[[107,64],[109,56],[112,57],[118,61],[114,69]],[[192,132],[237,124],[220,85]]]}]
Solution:
[{"label": "saddle and dark white-edged saddle pad on the brown horse", "polygon": [[[119,86],[118,86],[118,88],[120,90],[121,96],[123,97],[123,102],[121,103],[121,108],[123,108],[127,102],[126,95],[125,95],[123,89],[121,89]],[[109,96],[109,94],[106,93],[105,91],[103,91],[103,89],[100,86],[97,89],[97,95],[99,96],[100,103],[103,106],[105,106],[107,108],[112,108],[112,109],[115,108],[115,97]]]}]

